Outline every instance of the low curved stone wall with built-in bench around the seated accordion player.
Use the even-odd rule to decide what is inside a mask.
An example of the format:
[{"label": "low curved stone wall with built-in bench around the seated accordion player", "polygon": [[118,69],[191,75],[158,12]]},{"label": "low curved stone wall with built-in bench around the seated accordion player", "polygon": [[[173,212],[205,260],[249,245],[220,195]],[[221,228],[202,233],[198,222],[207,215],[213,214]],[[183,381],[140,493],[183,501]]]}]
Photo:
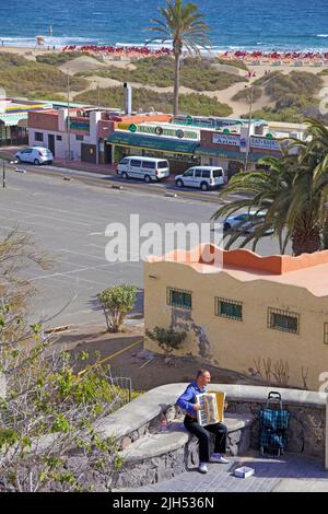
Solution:
[{"label": "low curved stone wall with built-in bench around the seated accordion player", "polygon": [[[187,384],[167,384],[151,389],[102,420],[102,423],[96,427],[97,432],[104,439],[113,437],[118,443],[122,456],[129,449],[130,454],[126,464],[122,459],[122,466],[119,469],[115,466],[115,455],[108,454],[103,468],[89,471],[85,483],[91,484],[93,491],[110,491],[124,487],[154,483],[169,479],[198,464],[196,439],[188,436],[184,428],[175,428],[180,424],[181,419],[181,412],[175,408],[175,402],[186,386]],[[266,405],[270,388],[211,384],[211,390],[226,393],[227,414],[232,418],[229,433],[230,454],[242,455],[249,445],[258,448],[258,414],[259,409]],[[324,462],[326,394],[296,389],[277,390],[282,395],[283,407],[291,412],[286,449],[304,453]],[[161,447],[159,447],[156,434],[160,431],[163,413],[169,427],[174,427],[174,436],[168,433],[166,437],[168,444],[161,446],[160,443]],[[244,423],[244,428],[241,428],[238,419],[247,419],[247,424]],[[229,417],[226,417],[226,424],[229,424]],[[155,444],[149,445],[149,441],[153,439]],[[142,455],[140,447],[139,453],[136,453],[133,448],[144,442],[148,446],[143,458],[140,457]],[[45,445],[49,444],[52,444],[50,440],[45,442]],[[133,454],[132,458],[131,454]],[[87,468],[83,452],[78,448],[72,449],[65,468],[77,469],[80,474],[83,467]],[[54,489],[50,487],[50,490],[58,490],[56,488],[58,484],[54,484]]]}]

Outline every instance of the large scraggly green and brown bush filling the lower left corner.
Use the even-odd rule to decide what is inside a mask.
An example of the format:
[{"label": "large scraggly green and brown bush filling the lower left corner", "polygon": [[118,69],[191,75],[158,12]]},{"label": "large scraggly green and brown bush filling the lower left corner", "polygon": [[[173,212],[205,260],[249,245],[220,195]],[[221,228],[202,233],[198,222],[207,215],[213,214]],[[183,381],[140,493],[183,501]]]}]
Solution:
[{"label": "large scraggly green and brown bush filling the lower left corner", "polygon": [[116,442],[97,427],[125,395],[101,355],[77,373],[89,355],[74,360],[42,319],[28,324],[33,289],[20,271],[30,262],[45,267],[48,258],[28,236],[13,230],[0,238],[0,492],[86,491],[101,469],[120,464]]}]

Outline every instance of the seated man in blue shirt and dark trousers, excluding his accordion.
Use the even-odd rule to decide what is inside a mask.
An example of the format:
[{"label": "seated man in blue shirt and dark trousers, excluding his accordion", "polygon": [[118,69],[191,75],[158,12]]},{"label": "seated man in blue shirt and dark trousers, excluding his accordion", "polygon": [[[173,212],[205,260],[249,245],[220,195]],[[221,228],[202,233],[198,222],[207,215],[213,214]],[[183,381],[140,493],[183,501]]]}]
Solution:
[{"label": "seated man in blue shirt and dark trousers, excluding his accordion", "polygon": [[[196,381],[188,385],[185,393],[177,399],[176,405],[185,412],[184,425],[191,434],[199,440],[199,471],[208,472],[207,463],[227,464],[229,460],[223,457],[226,452],[226,427],[223,423],[213,423],[201,427],[197,421],[197,411],[200,405],[197,401],[197,395],[206,393],[206,386],[211,381],[211,374],[208,370],[199,370]],[[210,456],[210,433],[215,434],[214,453]]]}]

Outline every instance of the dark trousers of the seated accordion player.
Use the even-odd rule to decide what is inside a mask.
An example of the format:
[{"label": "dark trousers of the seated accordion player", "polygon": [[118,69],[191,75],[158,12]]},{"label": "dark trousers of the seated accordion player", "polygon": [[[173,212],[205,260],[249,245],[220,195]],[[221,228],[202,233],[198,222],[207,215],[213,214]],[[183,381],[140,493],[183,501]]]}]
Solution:
[{"label": "dark trousers of the seated accordion player", "polygon": [[196,419],[186,416],[184,425],[199,440],[199,460],[209,463],[211,433],[215,434],[214,453],[225,454],[226,451],[226,427],[223,423],[207,424],[201,427]]}]

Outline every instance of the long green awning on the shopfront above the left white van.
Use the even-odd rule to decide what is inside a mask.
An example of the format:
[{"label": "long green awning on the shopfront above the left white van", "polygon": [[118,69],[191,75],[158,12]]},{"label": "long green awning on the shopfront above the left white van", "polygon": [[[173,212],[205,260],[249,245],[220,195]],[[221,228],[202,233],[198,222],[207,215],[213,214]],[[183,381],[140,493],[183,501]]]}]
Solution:
[{"label": "long green awning on the shopfront above the left white van", "polygon": [[140,136],[139,133],[114,132],[108,139],[108,143],[119,147],[143,148],[145,150],[159,150],[168,153],[186,153],[194,155],[198,143],[192,141],[180,141],[175,139],[153,138],[151,136]]}]

